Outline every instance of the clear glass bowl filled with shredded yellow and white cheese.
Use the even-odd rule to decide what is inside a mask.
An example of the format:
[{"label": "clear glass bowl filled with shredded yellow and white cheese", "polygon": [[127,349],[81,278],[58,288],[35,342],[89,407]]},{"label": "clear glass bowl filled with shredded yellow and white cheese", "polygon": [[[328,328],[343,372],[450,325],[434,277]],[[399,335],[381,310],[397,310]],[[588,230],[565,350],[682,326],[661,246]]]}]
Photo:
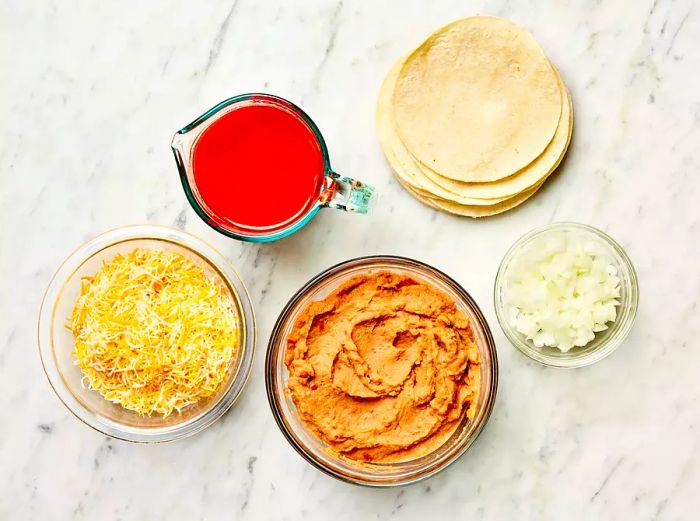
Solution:
[{"label": "clear glass bowl filled with shredded yellow and white cheese", "polygon": [[68,257],[38,334],[63,404],[108,436],[147,443],[192,435],[231,407],[250,375],[256,328],[223,254],[180,230],[138,225]]}]

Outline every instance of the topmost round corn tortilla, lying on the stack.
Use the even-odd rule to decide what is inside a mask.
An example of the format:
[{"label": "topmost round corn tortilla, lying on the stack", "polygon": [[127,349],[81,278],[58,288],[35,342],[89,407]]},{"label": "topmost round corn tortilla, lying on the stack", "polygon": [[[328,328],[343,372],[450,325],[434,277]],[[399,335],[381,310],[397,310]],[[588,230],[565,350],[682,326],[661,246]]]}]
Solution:
[{"label": "topmost round corn tortilla, lying on the stack", "polygon": [[544,151],[562,100],[554,69],[526,29],[477,16],[439,29],[406,59],[393,109],[419,162],[450,179],[488,182]]}]

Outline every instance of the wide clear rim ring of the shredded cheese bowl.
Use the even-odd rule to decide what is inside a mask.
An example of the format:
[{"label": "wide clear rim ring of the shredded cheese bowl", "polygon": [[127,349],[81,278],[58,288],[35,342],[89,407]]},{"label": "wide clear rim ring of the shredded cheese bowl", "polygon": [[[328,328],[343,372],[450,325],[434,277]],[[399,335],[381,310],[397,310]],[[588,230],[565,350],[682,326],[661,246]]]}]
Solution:
[{"label": "wide clear rim ring of the shredded cheese bowl", "polygon": [[[57,368],[53,349],[53,321],[56,303],[66,281],[96,254],[117,244],[134,240],[155,240],[184,248],[208,264],[222,278],[236,300],[243,333],[243,354],[226,392],[201,414],[169,427],[144,429],[126,427],[96,414],[85,406],[66,385]],[[134,443],[164,443],[192,436],[220,419],[236,402],[250,378],[257,344],[255,310],[239,272],[216,247],[188,232],[171,226],[132,224],[107,230],[75,248],[56,269],[41,300],[37,321],[37,346],[42,369],[59,401],[81,422],[111,438]]]}]

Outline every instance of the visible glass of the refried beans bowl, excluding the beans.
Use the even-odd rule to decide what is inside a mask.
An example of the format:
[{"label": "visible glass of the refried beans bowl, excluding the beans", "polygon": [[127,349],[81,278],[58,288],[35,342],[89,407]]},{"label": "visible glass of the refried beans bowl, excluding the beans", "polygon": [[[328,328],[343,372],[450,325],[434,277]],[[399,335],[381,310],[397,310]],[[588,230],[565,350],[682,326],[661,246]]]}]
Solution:
[{"label": "visible glass of the refried beans bowl, excluding the beans", "polygon": [[[481,357],[481,389],[474,419],[464,415],[455,432],[433,452],[419,458],[391,463],[361,462],[344,457],[309,431],[301,422],[287,389],[284,363],[286,339],[300,312],[312,301],[322,300],[348,279],[377,271],[410,275],[454,299],[470,319]],[[491,331],[479,307],[464,289],[444,273],[403,257],[360,257],[327,269],[307,282],[287,303],[272,330],[265,359],[265,384],[273,415],[289,443],[309,463],[340,480],[374,487],[412,483],[427,478],[454,462],[476,440],[496,399],[498,363]]]}]

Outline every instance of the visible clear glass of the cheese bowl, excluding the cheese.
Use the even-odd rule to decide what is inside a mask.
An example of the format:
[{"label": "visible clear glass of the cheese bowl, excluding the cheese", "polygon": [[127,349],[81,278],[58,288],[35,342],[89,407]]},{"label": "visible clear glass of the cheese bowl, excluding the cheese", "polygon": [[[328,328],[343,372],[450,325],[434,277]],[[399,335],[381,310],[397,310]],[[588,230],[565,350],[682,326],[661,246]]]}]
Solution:
[{"label": "visible clear glass of the cheese bowl, excluding the cheese", "polygon": [[[73,336],[65,327],[80,292],[81,277],[93,275],[103,262],[134,248],[184,255],[226,288],[240,324],[240,349],[219,392],[166,418],[139,416],[84,387],[75,365]],[[238,273],[216,249],[176,229],[139,225],[109,231],[78,248],[51,279],[39,313],[39,354],[58,398],[84,423],[103,434],[133,442],[164,442],[192,435],[219,419],[243,390],[253,365],[255,316]]]}]

